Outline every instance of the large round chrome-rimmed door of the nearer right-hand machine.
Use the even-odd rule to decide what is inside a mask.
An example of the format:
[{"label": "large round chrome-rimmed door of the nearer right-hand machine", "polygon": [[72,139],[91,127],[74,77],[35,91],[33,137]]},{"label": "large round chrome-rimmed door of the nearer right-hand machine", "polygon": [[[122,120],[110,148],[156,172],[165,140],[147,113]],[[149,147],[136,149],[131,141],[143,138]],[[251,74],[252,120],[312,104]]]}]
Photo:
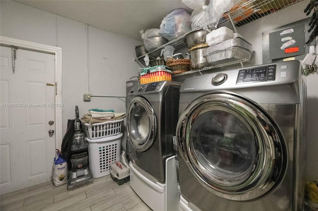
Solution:
[{"label": "large round chrome-rimmed door of the nearer right-hand machine", "polygon": [[286,172],[286,146],[274,121],[237,94],[215,92],[195,100],[181,114],[176,135],[194,176],[220,197],[258,198]]}]

